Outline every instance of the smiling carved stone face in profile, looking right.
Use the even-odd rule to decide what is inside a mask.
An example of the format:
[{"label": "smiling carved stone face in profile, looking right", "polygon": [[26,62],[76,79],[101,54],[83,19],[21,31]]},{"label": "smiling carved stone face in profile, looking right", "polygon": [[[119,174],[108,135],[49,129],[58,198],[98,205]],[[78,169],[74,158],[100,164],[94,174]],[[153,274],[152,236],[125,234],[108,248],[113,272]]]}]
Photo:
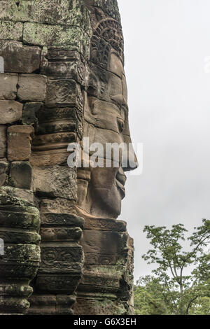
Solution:
[{"label": "smiling carved stone face in profile, looking right", "polygon": [[[92,64],[89,88],[84,98],[84,137],[89,137],[90,145],[100,143],[105,150],[106,143],[125,143],[129,150],[127,84],[123,64],[115,52],[109,55],[107,70]],[[133,152],[130,149],[130,153]],[[99,158],[104,159],[103,168],[78,169],[78,207],[85,213],[102,218],[120,215],[121,200],[125,197],[124,172],[137,167],[131,163],[132,167],[122,167],[128,153],[120,153],[117,167],[114,166],[113,153],[109,158],[111,167],[105,165],[105,153],[99,153]],[[134,160],[137,162],[136,158]]]}]

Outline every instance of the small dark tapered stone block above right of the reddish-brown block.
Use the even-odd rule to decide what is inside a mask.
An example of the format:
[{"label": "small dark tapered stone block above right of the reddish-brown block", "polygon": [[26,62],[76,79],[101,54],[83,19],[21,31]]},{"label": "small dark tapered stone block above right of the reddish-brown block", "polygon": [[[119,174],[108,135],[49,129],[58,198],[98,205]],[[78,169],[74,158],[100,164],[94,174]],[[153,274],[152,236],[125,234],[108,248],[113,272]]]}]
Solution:
[{"label": "small dark tapered stone block above right of the reddish-brown block", "polygon": [[38,112],[43,109],[43,103],[26,103],[22,111],[22,123],[34,125],[37,123]]}]

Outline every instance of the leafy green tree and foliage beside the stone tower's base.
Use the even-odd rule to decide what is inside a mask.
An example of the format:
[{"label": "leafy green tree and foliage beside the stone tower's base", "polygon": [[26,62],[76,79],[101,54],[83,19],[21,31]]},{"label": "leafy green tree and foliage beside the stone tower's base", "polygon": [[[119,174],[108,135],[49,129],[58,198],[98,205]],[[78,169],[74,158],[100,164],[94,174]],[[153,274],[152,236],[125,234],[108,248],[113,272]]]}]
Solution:
[{"label": "leafy green tree and foliage beside the stone tower's base", "polygon": [[[158,267],[153,270],[155,276],[147,277],[146,281],[144,278],[144,282],[141,279],[139,288],[135,288],[136,309],[149,314],[154,314],[156,309],[160,312],[158,314],[188,315],[207,308],[210,254],[205,249],[210,241],[210,221],[204,219],[202,225],[187,238],[190,251],[183,250],[188,231],[182,224],[173,225],[172,230],[165,226],[146,226],[144,232],[153,248],[143,258],[148,264]],[[186,270],[190,271],[190,275],[185,275]],[[146,305],[153,307],[143,307],[144,298],[148,301]]]}]

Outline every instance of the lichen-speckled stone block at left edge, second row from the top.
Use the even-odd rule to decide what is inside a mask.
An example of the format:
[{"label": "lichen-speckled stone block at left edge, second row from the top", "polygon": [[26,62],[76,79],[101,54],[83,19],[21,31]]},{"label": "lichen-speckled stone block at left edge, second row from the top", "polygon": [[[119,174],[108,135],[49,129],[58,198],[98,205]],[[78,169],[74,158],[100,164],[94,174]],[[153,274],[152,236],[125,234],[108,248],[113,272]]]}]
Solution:
[{"label": "lichen-speckled stone block at left edge, second row from the top", "polygon": [[0,21],[1,40],[22,40],[21,22]]}]

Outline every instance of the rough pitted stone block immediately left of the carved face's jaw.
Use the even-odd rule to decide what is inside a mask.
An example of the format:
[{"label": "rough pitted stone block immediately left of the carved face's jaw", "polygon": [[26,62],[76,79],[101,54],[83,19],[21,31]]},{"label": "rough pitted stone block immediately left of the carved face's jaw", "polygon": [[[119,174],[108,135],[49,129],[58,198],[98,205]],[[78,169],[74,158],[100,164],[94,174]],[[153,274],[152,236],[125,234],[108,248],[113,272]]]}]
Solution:
[{"label": "rough pitted stone block immediately left of the carved face's jaw", "polygon": [[76,200],[76,169],[62,166],[34,167],[34,190],[45,197]]}]

